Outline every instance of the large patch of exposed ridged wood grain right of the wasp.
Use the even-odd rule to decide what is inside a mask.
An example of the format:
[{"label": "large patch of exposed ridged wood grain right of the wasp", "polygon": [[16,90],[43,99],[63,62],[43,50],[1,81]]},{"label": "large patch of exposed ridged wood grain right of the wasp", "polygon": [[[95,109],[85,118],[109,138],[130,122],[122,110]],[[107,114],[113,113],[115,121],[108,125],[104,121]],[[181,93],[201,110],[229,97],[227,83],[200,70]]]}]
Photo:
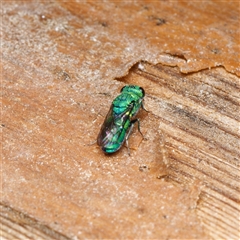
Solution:
[{"label": "large patch of exposed ridged wood grain right of the wasp", "polygon": [[200,184],[197,209],[203,225],[215,239],[236,239],[239,78],[222,68],[184,75],[177,68],[140,64],[124,82],[149,89],[152,113],[164,138],[169,178]]}]

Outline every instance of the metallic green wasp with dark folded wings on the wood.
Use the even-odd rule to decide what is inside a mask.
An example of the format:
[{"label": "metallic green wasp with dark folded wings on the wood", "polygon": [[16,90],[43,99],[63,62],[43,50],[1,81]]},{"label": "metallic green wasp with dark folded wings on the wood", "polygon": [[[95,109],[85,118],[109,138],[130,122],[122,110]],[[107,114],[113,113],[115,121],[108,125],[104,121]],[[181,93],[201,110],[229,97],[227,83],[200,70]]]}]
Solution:
[{"label": "metallic green wasp with dark folded wings on the wood", "polygon": [[128,147],[128,137],[134,123],[138,122],[138,130],[141,133],[139,119],[133,119],[133,117],[138,113],[140,107],[144,109],[144,95],[143,88],[127,85],[122,88],[121,94],[113,100],[97,138],[97,144],[105,153],[118,151],[124,141]]}]

